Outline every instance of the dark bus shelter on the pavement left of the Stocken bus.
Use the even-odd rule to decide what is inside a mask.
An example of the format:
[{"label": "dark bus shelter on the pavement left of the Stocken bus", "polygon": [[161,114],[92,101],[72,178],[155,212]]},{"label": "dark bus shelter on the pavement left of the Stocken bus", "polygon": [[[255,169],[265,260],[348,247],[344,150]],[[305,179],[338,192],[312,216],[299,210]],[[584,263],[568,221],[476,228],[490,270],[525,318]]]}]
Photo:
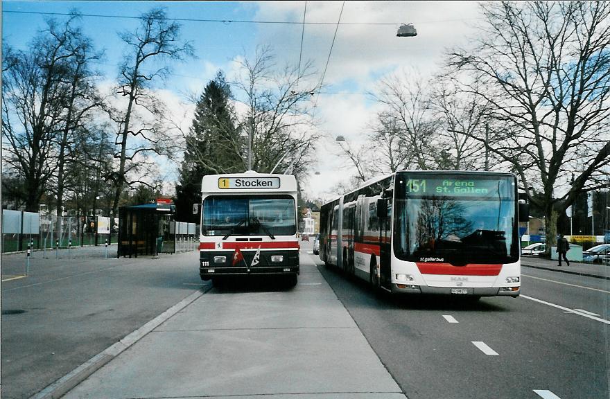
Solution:
[{"label": "dark bus shelter on the pavement left of the Stocken bus", "polygon": [[160,252],[173,253],[174,243],[167,244],[174,218],[175,205],[171,203],[155,202],[119,208],[117,257],[137,258],[139,255],[155,256]]}]

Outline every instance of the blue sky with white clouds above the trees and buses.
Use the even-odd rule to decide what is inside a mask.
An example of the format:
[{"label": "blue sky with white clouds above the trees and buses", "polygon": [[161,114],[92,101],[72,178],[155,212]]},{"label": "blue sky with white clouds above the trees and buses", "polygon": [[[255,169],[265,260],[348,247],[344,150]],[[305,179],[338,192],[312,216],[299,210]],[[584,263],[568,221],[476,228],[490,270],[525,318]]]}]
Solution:
[{"label": "blue sky with white clouds above the trees and buses", "polygon": [[[173,120],[180,121],[185,130],[194,109],[188,103],[189,95],[198,96],[219,69],[230,82],[235,60],[251,57],[256,46],[270,46],[278,65],[296,65],[299,56],[302,64],[311,61],[317,71],[314,80],[324,76],[325,88],[312,98],[322,139],[316,145],[304,193],[324,200],[335,197],[336,185],[356,172],[338,157],[336,137],[344,136],[354,145],[363,141],[378,109],[367,96],[376,82],[406,68],[432,76],[444,51],[466,46],[480,23],[478,4],[473,1],[5,0],[1,7],[3,40],[21,50],[46,26],[45,19],[63,19],[61,14],[78,10],[85,35],[105,51],[97,67],[109,85],[116,79],[125,49],[119,33],[135,30],[143,12],[166,8],[169,18],[181,19],[182,38],[192,42],[196,55],[173,64],[172,74],[156,87],[172,110]],[[403,23],[414,24],[417,37],[397,37]],[[159,170],[165,171],[168,183],[177,179],[175,164],[162,161]]]}]

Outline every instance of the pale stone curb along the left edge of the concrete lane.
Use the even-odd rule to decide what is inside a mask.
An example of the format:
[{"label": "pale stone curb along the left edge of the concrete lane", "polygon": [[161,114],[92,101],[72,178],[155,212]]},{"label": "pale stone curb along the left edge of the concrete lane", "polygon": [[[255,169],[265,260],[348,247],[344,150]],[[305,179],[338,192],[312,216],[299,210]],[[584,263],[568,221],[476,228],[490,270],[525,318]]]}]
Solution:
[{"label": "pale stone curb along the left edge of the concrete lane", "polygon": [[110,360],[113,360],[114,357],[123,353],[125,349],[130,348],[130,346],[132,346],[140,339],[148,335],[149,332],[164,323],[164,321],[171,318],[177,312],[180,312],[180,310],[186,308],[187,305],[190,305],[195,300],[199,299],[200,296],[202,296],[203,294],[209,292],[212,287],[213,285],[210,285],[204,290],[198,290],[197,292],[193,292],[193,294],[186,296],[186,298],[182,299],[182,301],[176,303],[162,314],[159,314],[159,316],[155,317],[155,319],[148,321],[148,323],[144,324],[134,332],[131,332],[129,335],[121,339],[116,344],[106,348],[101,353],[98,353],[91,359],[87,360],[87,362],[81,364],[70,373],[67,373],[59,380],[53,382],[51,385],[44,388],[42,391],[36,393],[33,396],[30,396],[30,399],[61,398],[71,389],[80,384],[80,382],[87,379],[89,375],[92,375],[95,371],[101,369],[105,364],[110,362]]}]

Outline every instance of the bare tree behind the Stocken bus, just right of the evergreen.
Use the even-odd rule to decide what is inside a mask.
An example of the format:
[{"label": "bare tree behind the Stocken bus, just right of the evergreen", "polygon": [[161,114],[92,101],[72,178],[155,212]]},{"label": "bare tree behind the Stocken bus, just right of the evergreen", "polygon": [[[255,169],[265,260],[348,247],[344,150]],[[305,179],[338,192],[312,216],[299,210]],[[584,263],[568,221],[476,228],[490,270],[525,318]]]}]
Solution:
[{"label": "bare tree behind the Stocken bus, just right of the evergreen", "polygon": [[254,59],[240,62],[236,83],[246,98],[247,112],[238,116],[242,132],[249,134],[251,159],[245,166],[259,172],[288,170],[295,174],[306,168],[308,155],[318,134],[311,130],[315,87],[304,85],[313,72],[311,64],[277,70],[269,47],[256,48]]}]

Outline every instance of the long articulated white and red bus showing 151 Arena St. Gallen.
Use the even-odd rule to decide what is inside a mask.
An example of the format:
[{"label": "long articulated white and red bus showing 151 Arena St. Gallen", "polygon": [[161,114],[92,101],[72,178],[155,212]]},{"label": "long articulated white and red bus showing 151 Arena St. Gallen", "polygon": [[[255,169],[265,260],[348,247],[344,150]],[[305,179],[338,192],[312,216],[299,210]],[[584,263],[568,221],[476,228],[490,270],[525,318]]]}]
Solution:
[{"label": "long articulated white and red bus showing 151 Arena St. Gallen", "polygon": [[322,206],[320,258],[392,293],[516,297],[518,198],[509,173],[394,172]]}]

